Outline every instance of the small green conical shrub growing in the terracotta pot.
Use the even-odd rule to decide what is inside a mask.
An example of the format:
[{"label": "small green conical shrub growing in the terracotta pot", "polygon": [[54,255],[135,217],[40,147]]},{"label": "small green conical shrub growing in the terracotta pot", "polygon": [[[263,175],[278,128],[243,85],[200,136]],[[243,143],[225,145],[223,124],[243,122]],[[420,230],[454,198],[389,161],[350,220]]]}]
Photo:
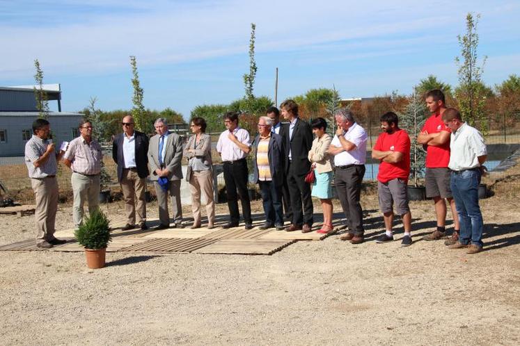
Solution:
[{"label": "small green conical shrub growing in the terracotta pot", "polygon": [[79,244],[86,249],[104,249],[112,240],[107,215],[99,209],[93,211],[74,231],[74,235]]}]

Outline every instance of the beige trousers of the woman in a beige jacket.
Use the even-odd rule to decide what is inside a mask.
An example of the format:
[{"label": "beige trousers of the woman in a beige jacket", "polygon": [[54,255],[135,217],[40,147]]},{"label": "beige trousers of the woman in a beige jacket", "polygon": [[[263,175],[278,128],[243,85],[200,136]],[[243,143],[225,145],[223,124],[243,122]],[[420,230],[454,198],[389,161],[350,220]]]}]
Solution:
[{"label": "beige trousers of the woman in a beige jacket", "polygon": [[214,224],[215,201],[213,198],[213,173],[212,170],[192,171],[189,178],[189,190],[191,192],[191,210],[194,213],[194,224],[200,225],[200,192],[206,197],[207,223]]}]

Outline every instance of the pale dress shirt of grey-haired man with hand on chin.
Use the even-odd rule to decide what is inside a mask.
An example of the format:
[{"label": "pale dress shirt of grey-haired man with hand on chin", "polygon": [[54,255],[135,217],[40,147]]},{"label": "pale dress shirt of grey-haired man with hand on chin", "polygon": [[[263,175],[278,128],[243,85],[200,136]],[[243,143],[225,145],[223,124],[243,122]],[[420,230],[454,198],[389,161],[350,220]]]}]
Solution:
[{"label": "pale dress shirt of grey-haired man with hand on chin", "polygon": [[[345,140],[354,143],[356,147],[350,151],[342,151],[340,154],[336,154],[334,156],[334,165],[364,165],[367,160],[368,140],[368,135],[365,129],[359,126],[357,122],[354,122],[354,124],[349,127],[348,131],[343,135],[343,137],[345,137]],[[340,138],[338,138],[338,135],[334,135],[331,145],[334,145],[335,147],[341,147],[341,142]]]}]

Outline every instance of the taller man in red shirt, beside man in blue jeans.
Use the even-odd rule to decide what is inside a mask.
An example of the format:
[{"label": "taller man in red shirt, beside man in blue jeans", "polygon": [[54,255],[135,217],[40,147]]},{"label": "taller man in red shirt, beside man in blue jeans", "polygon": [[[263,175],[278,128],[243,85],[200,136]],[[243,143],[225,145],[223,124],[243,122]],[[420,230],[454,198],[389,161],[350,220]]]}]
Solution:
[{"label": "taller man in red shirt, beside man in blue jeans", "polygon": [[426,149],[426,197],[432,197],[437,218],[437,228],[425,236],[424,240],[439,240],[446,236],[446,202],[448,200],[453,217],[454,230],[452,237],[446,240],[446,245],[452,245],[459,239],[459,217],[455,209],[450,188],[450,134],[451,131],[442,121],[442,114],[446,110],[446,101],[443,92],[438,89],[426,93],[426,106],[432,112],[423,129],[417,136],[417,142]]}]

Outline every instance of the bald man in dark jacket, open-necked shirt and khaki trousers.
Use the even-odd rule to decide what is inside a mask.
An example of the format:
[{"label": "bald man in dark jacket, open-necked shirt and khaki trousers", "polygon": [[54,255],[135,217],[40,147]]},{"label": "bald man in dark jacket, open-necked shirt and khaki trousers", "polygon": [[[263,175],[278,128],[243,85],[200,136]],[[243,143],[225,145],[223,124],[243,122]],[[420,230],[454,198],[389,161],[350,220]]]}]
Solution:
[{"label": "bald man in dark jacket, open-necked shirt and khaki trousers", "polygon": [[[148,176],[148,136],[134,130],[132,115],[123,117],[123,133],[113,139],[112,158],[118,165],[118,181],[125,198],[127,224],[123,230],[136,228],[136,211],[139,227],[146,226],[146,177]],[[137,201],[135,201],[137,199]]]}]

